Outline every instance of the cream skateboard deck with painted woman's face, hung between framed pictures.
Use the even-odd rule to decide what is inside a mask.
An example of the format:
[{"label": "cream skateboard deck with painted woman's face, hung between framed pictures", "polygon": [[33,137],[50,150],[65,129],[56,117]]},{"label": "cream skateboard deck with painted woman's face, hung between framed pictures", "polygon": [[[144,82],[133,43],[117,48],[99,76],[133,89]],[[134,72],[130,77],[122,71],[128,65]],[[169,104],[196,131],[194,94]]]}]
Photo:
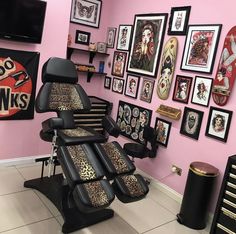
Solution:
[{"label": "cream skateboard deck with painted woman's face, hung between framed pictures", "polygon": [[157,95],[163,100],[166,100],[170,93],[171,83],[174,76],[177,49],[177,38],[171,37],[164,46],[160,65],[160,75],[157,81]]}]

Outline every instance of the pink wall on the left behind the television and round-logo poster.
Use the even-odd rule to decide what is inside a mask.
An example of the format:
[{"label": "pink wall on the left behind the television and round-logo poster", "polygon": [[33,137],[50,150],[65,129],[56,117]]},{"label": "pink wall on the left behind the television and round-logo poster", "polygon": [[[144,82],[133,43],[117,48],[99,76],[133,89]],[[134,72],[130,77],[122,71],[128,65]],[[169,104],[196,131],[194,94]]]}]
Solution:
[{"label": "pink wall on the left behind the television and round-logo poster", "polygon": [[[0,40],[2,48],[40,52],[37,91],[41,86],[43,63],[52,56],[65,57],[70,2],[68,0],[47,1],[44,32],[40,45]],[[48,154],[49,144],[39,138],[43,119],[46,119],[46,115],[35,114],[33,120],[1,121],[0,159]]]}]

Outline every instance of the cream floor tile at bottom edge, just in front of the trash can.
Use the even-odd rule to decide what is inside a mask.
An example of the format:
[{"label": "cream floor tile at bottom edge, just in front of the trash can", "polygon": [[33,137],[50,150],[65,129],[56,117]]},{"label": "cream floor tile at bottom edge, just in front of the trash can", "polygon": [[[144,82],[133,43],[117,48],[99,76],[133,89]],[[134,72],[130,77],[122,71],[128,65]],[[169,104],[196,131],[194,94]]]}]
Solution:
[{"label": "cream floor tile at bottom edge, just in front of the trash can", "polygon": [[181,225],[177,221],[172,221],[151,231],[145,232],[145,234],[199,234],[199,232]]}]

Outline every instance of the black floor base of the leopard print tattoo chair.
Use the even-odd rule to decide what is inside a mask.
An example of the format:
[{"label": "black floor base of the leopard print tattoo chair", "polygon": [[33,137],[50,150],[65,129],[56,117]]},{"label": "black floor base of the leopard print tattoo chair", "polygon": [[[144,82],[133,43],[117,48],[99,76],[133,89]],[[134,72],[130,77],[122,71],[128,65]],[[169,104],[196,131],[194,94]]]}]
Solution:
[{"label": "black floor base of the leopard print tattoo chair", "polygon": [[64,218],[62,226],[63,233],[70,233],[76,230],[99,223],[114,216],[114,211],[104,209],[94,213],[81,213],[73,204],[68,204],[70,190],[68,185],[63,184],[62,174],[49,177],[42,177],[25,181],[26,188],[32,188],[44,194],[59,210]]}]

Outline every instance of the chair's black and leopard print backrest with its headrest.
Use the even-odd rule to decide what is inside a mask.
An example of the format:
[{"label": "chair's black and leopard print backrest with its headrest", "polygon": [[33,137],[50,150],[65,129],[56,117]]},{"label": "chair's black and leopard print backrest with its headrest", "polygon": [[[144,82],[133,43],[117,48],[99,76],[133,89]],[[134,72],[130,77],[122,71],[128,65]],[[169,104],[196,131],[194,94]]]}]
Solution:
[{"label": "chair's black and leopard print backrest with its headrest", "polygon": [[36,98],[36,111],[56,112],[65,121],[65,128],[73,128],[73,113],[91,109],[90,100],[77,84],[78,73],[74,63],[67,59],[50,58],[42,69],[42,82]]}]

